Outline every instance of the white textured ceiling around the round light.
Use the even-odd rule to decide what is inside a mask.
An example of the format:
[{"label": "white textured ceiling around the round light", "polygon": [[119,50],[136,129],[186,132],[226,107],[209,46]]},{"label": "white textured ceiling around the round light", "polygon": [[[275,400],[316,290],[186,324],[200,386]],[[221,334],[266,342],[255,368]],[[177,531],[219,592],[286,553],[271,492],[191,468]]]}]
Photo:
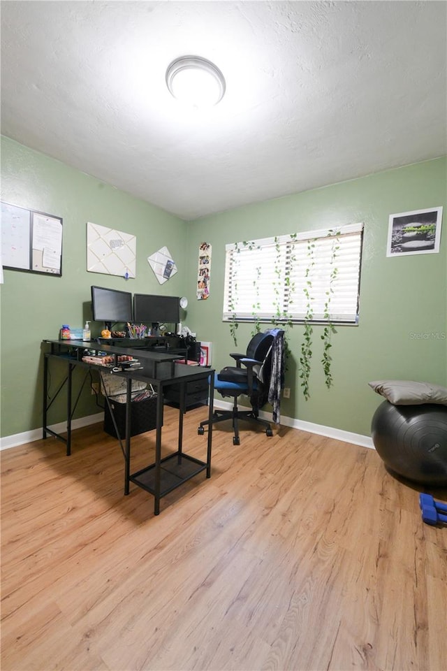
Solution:
[{"label": "white textured ceiling around the round light", "polygon": [[[1,2],[1,132],[182,219],[438,157],[447,3]],[[226,95],[185,110],[168,64]]]}]

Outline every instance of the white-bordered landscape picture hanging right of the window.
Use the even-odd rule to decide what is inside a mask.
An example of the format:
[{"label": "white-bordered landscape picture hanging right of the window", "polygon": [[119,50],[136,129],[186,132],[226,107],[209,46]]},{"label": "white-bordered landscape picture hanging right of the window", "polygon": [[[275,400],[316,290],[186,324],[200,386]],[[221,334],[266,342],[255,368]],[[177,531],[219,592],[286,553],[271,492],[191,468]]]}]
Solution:
[{"label": "white-bordered landscape picture hanging right of the window", "polygon": [[437,254],[441,243],[442,208],[390,215],[387,257]]}]

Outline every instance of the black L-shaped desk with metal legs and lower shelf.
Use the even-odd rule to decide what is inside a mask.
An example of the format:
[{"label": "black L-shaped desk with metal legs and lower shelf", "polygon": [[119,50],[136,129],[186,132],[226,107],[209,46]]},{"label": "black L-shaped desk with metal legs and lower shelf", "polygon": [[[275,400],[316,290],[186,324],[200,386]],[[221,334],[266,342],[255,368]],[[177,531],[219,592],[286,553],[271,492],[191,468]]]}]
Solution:
[{"label": "black L-shaped desk with metal legs and lower shelf", "polygon": [[[183,416],[184,416],[184,396],[181,394],[181,403],[179,407],[179,426],[178,426],[178,445],[175,452],[168,456],[161,457],[161,429],[163,426],[163,401],[166,389],[171,385],[180,385],[184,389],[188,382],[198,380],[208,380],[210,384],[210,403],[208,408],[209,419],[213,414],[213,391],[214,391],[214,370],[210,368],[200,368],[199,366],[186,366],[184,363],[175,363],[178,354],[169,352],[147,352],[142,349],[132,349],[126,347],[115,347],[114,345],[97,345],[93,341],[82,342],[81,340],[43,340],[44,360],[43,360],[43,438],[47,435],[53,435],[66,442],[66,454],[71,454],[71,420],[75,411],[76,403],[80,397],[84,382],[78,393],[78,398],[73,406],[73,370],[80,366],[89,370],[98,370],[104,375],[117,375],[126,380],[126,438],[123,449],[124,454],[124,494],[129,494],[130,483],[137,484],[145,491],[154,496],[154,514],[160,512],[160,499],[179,485],[189,480],[199,472],[206,470],[206,477],[211,477],[211,448],[212,448],[212,424],[208,432],[207,440],[207,458],[206,461],[200,461],[188,454],[182,452],[183,437]],[[94,363],[82,361],[84,350],[95,349],[96,352],[107,352],[113,356],[117,363],[117,356],[120,354],[129,354],[141,363],[141,368],[129,368],[127,370],[112,370],[105,366],[99,366]],[[65,380],[59,385],[54,396],[49,399],[48,394],[48,368],[50,361],[57,359],[63,361],[68,366]],[[113,364],[112,364],[113,365]],[[86,374],[87,377],[87,374]],[[85,377],[85,379],[86,379]],[[140,380],[152,385],[156,391],[156,445],[155,461],[146,468],[138,472],[131,473],[131,387],[132,380]],[[47,426],[48,410],[58,396],[64,385],[67,384],[67,438],[55,433]],[[106,398],[108,402],[108,398]],[[121,443],[121,440],[119,440]]]}]

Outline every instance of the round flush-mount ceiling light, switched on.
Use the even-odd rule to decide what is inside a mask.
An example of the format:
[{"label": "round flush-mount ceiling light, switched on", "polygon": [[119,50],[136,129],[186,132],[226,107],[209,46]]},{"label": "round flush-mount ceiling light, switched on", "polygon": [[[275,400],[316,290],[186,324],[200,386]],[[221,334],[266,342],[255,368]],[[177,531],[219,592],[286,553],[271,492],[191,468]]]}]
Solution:
[{"label": "round flush-mount ceiling light, switched on", "polygon": [[211,61],[200,56],[176,58],[166,70],[170,93],[192,107],[217,105],[225,93],[225,78]]}]

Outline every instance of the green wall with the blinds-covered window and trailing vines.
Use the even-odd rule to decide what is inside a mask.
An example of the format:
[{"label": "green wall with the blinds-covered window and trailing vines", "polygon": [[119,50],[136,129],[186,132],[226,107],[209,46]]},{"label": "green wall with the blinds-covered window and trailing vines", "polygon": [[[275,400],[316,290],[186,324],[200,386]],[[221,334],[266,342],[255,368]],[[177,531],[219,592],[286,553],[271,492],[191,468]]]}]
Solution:
[{"label": "green wall with the blinds-covered window and trailing vines", "polygon": [[[362,435],[370,434],[381,397],[367,386],[380,378],[429,381],[447,386],[447,211],[446,157],[397,168],[322,189],[265,201],[205,217],[189,229],[189,274],[201,240],[212,244],[210,298],[189,313],[201,324],[200,338],[214,343],[213,366],[228,363],[251,335],[241,324],[235,348],[229,325],[222,324],[226,243],[365,223],[358,326],[339,326],[332,339],[334,386],[328,390],[320,365],[322,326],[314,328],[311,398],[305,401],[298,379],[302,325],[288,333],[291,359],[286,387],[290,400],[281,414]],[[388,217],[392,213],[444,206],[439,254],[387,258]],[[199,329],[198,329],[199,331]]]}]

